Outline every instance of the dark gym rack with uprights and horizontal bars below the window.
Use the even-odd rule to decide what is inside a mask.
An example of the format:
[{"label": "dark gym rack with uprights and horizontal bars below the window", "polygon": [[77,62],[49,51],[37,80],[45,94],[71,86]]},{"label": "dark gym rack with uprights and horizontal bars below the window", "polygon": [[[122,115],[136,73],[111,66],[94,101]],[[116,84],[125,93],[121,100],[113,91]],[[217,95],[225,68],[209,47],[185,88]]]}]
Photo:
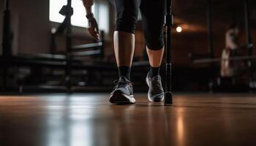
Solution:
[{"label": "dark gym rack with uprights and horizontal bars below the window", "polygon": [[[9,9],[9,0],[5,0],[4,4],[4,31],[3,31],[3,53],[0,56],[0,66],[1,66],[1,72],[2,72],[2,89],[3,91],[7,91],[9,88],[9,85],[7,85],[8,82],[10,82],[9,77],[10,74],[8,73],[8,70],[13,68],[12,66],[18,66],[20,67],[29,67],[29,69],[40,69],[40,68],[48,68],[48,69],[65,69],[66,70],[66,81],[65,85],[66,88],[70,90],[72,87],[71,84],[71,72],[72,68],[77,70],[90,70],[90,69],[96,69],[97,67],[94,67],[94,64],[83,64],[83,61],[80,60],[83,56],[88,55],[99,55],[100,57],[103,57],[104,55],[104,32],[101,32],[101,42],[97,43],[91,43],[87,45],[78,45],[78,46],[72,46],[72,32],[71,32],[71,24],[70,24],[70,18],[72,15],[72,7],[71,7],[71,0],[68,1],[67,6],[64,6],[60,13],[62,15],[66,15],[66,18],[64,19],[64,22],[61,23],[59,28],[57,30],[52,30],[52,41],[51,41],[51,53],[52,54],[42,54],[42,53],[36,53],[36,54],[18,54],[18,55],[12,55],[12,48],[11,48],[11,32],[10,32],[10,9]],[[66,36],[66,50],[67,53],[64,55],[59,55],[55,53],[55,37],[56,34],[65,33]],[[108,66],[112,67],[112,66]],[[105,69],[105,66],[99,66],[98,68]],[[101,70],[101,69],[97,69]],[[23,85],[22,85],[23,86]],[[58,88],[58,87],[52,87],[52,88]]]}]

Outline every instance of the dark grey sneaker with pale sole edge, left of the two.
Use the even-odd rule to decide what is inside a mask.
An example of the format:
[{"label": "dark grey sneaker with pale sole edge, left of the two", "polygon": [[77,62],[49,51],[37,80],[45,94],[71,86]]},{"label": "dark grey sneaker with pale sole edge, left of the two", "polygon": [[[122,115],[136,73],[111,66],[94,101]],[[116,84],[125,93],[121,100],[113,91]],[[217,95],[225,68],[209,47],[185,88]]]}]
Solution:
[{"label": "dark grey sneaker with pale sole edge, left of the two", "polygon": [[132,82],[126,77],[119,77],[119,80],[114,81],[116,84],[113,91],[110,93],[110,103],[112,104],[134,104]]}]

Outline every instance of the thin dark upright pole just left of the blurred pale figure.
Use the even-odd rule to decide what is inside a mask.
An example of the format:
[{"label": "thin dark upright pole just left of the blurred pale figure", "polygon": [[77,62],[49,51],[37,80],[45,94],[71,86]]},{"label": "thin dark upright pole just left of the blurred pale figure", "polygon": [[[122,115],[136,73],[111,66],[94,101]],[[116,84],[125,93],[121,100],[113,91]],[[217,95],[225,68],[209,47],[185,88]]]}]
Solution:
[{"label": "thin dark upright pole just left of the blurred pale figure", "polygon": [[[207,18],[207,31],[208,31],[208,58],[214,58],[214,47],[213,47],[213,34],[212,34],[212,22],[211,22],[211,0],[207,1],[206,6],[206,18]],[[210,71],[214,70],[214,64],[211,63]],[[210,81],[209,81],[209,88],[210,91],[213,86],[213,74],[211,73]]]}]

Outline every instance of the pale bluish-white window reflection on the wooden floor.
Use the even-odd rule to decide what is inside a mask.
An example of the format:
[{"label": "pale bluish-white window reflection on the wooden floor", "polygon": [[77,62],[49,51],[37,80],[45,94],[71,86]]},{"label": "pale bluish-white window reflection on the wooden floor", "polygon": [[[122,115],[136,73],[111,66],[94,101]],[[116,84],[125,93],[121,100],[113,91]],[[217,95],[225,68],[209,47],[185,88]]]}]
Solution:
[{"label": "pale bluish-white window reflection on the wooden floor", "polygon": [[94,115],[94,110],[69,96],[59,101],[62,102],[59,106],[48,107],[47,145],[94,145],[94,126],[90,116]]}]

